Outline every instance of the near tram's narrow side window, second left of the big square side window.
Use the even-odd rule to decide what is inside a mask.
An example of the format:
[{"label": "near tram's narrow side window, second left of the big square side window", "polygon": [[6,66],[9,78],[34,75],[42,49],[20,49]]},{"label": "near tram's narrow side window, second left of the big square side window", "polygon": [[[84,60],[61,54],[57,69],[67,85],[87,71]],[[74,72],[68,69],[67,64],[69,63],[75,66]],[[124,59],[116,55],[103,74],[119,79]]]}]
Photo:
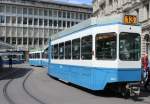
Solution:
[{"label": "near tram's narrow side window, second left of the big square side window", "polygon": [[72,59],[80,59],[80,38],[72,40]]}]

